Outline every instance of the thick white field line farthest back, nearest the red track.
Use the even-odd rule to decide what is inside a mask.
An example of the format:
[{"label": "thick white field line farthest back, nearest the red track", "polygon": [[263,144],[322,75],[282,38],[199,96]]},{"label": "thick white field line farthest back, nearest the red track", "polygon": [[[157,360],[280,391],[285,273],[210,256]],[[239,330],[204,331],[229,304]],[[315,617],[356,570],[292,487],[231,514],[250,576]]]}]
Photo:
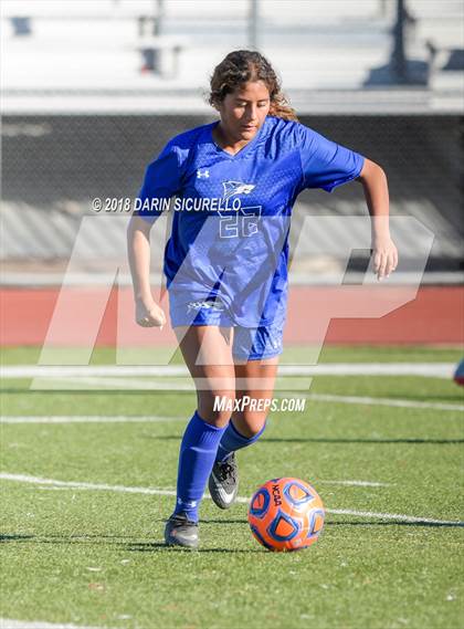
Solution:
[{"label": "thick white field line farthest back, nearest the red track", "polygon": [[[333,363],[325,365],[280,365],[280,376],[423,376],[451,378],[454,363]],[[2,378],[63,378],[78,376],[189,376],[183,365],[7,365]]]}]

